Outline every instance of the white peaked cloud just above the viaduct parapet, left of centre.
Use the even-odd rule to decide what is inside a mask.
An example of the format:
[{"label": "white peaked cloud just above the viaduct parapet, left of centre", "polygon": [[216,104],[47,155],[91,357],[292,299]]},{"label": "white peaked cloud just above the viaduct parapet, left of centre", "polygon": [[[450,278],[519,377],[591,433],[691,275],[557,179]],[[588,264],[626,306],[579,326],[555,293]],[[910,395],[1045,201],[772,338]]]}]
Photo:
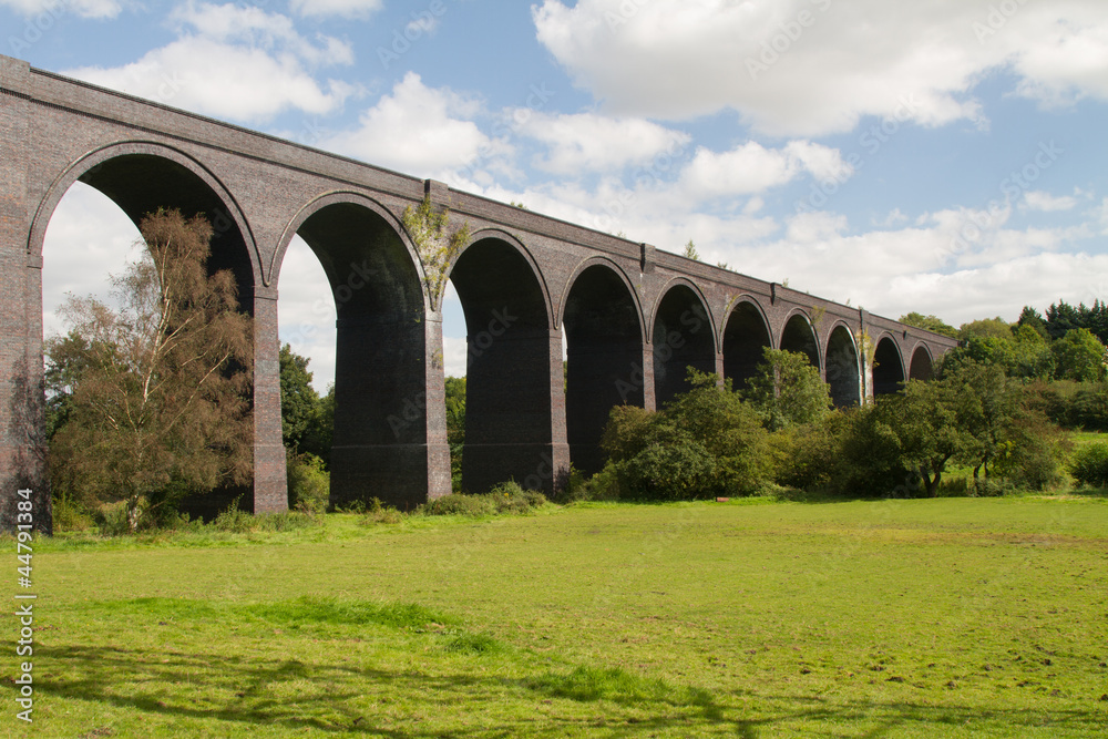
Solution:
[{"label": "white peaked cloud just above the viaduct parapet, left of centre", "polygon": [[475,123],[465,120],[480,105],[447,89],[431,89],[409,72],[366,111],[355,131],[331,136],[325,148],[370,164],[419,176],[465,166],[495,148]]}]

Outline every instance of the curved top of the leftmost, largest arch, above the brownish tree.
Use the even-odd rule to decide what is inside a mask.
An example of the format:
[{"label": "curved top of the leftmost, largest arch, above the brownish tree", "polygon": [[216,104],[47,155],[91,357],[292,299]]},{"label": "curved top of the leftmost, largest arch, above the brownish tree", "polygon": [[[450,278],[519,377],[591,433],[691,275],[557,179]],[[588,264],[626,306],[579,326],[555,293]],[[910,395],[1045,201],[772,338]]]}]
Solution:
[{"label": "curved top of the leftmost, largest arch, above the brownish tree", "polygon": [[[205,214],[215,230],[209,268],[230,269],[243,296],[265,284],[254,235],[227,187],[181,150],[143,141],[119,142],[90,152],[54,178],[31,222],[30,259],[41,258],[54,208],[79,179],[107,196],[136,226],[158,207],[178,208],[186,217]],[[253,312],[249,300],[245,302],[244,309]]]}]

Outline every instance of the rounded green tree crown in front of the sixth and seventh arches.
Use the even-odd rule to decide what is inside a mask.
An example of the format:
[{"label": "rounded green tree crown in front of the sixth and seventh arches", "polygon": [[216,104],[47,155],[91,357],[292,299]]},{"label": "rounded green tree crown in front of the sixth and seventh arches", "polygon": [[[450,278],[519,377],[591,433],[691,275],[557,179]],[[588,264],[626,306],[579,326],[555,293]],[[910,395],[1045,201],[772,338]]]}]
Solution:
[{"label": "rounded green tree crown in front of the sixth and seventh arches", "polygon": [[742,396],[770,431],[818,421],[831,409],[830,386],[808,356],[769,347]]}]

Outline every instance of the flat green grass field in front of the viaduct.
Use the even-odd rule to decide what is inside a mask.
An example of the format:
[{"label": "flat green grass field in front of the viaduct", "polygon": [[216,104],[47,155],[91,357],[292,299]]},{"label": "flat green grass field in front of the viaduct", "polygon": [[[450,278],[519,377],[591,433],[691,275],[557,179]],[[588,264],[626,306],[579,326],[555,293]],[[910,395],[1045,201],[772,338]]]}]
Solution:
[{"label": "flat green grass field in front of the viaduct", "polygon": [[4,733],[1108,733],[1102,496],[326,519],[37,542]]}]

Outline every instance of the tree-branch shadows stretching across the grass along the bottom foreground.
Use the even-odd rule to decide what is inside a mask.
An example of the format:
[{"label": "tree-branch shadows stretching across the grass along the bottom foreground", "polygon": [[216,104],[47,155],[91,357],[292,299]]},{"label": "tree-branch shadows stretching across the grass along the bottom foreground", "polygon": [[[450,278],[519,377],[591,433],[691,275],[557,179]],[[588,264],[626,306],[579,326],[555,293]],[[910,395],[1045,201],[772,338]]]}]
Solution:
[{"label": "tree-branch shadows stretching across the grass along the bottom foreground", "polygon": [[[121,714],[140,711],[152,732],[157,719],[175,730],[203,721],[208,731],[226,735],[247,733],[257,725],[378,737],[752,738],[786,729],[820,735],[848,723],[870,737],[907,727],[937,736],[952,726],[1017,732],[1050,727],[1053,732],[1095,736],[1104,726],[1104,716],[1091,711],[712,695],[617,668],[578,667],[509,678],[489,674],[503,670],[360,668],[198,650],[42,646],[35,653],[51,666],[51,676],[37,680],[43,695],[113,707]],[[732,702],[737,698],[745,707]]]}]

